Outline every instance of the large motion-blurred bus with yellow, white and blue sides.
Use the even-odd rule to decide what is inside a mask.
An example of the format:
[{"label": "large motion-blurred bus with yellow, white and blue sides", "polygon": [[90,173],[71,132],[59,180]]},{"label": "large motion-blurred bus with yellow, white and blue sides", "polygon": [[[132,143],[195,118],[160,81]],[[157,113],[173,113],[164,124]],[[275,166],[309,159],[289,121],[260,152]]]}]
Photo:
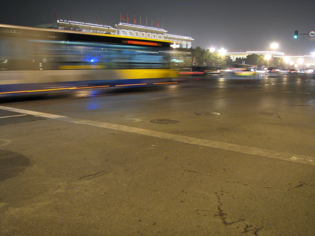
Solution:
[{"label": "large motion-blurred bus with yellow, white and blue sides", "polygon": [[0,97],[177,83],[191,59],[172,44],[0,25]]}]

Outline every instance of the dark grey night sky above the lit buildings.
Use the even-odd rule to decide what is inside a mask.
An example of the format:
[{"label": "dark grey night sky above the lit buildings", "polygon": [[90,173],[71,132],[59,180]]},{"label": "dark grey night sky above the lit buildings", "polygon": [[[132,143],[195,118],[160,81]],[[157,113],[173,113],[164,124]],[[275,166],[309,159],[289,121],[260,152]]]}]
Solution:
[{"label": "dark grey night sky above the lit buildings", "polygon": [[[160,27],[169,34],[194,38],[192,47],[214,47],[228,51],[273,50],[286,55],[309,55],[315,52],[315,41],[308,33],[315,30],[315,0],[216,0],[216,1],[1,1],[0,24],[34,26],[57,20],[82,21],[114,26],[120,22],[120,12],[129,23],[135,15],[137,24]],[[122,21],[125,22],[126,21]],[[294,31],[298,30],[298,39]]]}]

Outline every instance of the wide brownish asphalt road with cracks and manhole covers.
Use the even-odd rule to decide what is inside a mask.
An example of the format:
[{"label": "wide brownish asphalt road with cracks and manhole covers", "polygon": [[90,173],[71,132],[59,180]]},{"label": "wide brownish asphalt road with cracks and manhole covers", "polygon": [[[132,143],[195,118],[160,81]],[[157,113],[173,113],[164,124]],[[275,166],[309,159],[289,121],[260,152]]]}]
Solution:
[{"label": "wide brownish asphalt road with cracks and manhole covers", "polygon": [[0,235],[315,235],[315,79],[0,100]]}]

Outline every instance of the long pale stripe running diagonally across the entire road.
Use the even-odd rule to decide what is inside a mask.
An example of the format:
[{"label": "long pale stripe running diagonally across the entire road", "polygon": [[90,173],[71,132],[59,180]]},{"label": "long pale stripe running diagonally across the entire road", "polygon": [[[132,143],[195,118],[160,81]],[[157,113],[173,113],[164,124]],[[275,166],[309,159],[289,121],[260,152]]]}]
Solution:
[{"label": "long pale stripe running diagonally across the entire road", "polygon": [[92,125],[92,126],[103,127],[107,129],[137,133],[137,134],[147,135],[147,136],[156,137],[156,138],[164,138],[164,139],[169,139],[169,140],[178,141],[182,143],[190,143],[190,144],[196,144],[196,145],[201,145],[201,146],[206,146],[206,147],[211,147],[211,148],[219,148],[219,149],[230,150],[234,152],[241,152],[241,153],[250,154],[250,155],[264,156],[264,157],[270,157],[270,158],[281,159],[281,160],[286,160],[286,161],[294,161],[294,162],[299,162],[299,163],[304,163],[304,164],[309,164],[309,165],[315,165],[315,157],[310,157],[310,156],[297,155],[297,154],[291,154],[291,153],[286,153],[286,152],[278,152],[278,151],[261,149],[261,148],[253,148],[253,147],[247,147],[247,146],[242,146],[242,145],[237,145],[237,144],[232,144],[232,143],[222,143],[222,142],[211,141],[211,140],[206,140],[206,139],[201,139],[201,138],[192,138],[192,137],[187,137],[187,136],[182,136],[182,135],[177,135],[177,134],[152,131],[152,130],[141,129],[141,128],[136,128],[136,127],[131,127],[131,126],[124,126],[124,125],[118,125],[118,124],[112,124],[112,123],[100,122],[100,121],[77,119],[77,118],[67,117],[63,115],[54,115],[54,114],[49,114],[49,113],[29,111],[29,110],[17,109],[17,108],[12,108],[12,107],[0,106],[0,109],[26,113],[29,115],[41,116],[41,117],[46,117],[46,118],[51,118],[51,119],[57,119],[61,121],[68,121],[68,122],[77,123],[77,124]]}]

